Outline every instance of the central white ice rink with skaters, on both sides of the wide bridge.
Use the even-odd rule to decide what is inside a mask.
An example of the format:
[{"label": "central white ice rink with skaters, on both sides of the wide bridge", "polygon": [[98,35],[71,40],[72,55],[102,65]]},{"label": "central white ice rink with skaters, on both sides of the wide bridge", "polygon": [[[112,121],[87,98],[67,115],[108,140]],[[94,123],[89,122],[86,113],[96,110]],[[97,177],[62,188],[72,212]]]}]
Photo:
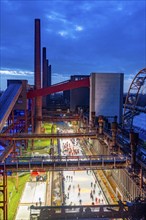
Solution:
[{"label": "central white ice rink with skaters, on both sides of the wide bridge", "polygon": [[[60,148],[62,155],[81,156],[84,153],[76,138],[60,140]],[[93,171],[64,171],[63,176],[66,205],[107,204]]]}]

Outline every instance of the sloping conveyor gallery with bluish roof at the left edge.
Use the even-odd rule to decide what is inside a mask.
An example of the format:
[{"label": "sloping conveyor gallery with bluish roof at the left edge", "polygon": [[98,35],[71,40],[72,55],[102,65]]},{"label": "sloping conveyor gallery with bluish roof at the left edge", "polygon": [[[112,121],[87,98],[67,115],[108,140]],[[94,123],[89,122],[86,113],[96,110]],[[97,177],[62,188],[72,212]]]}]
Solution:
[{"label": "sloping conveyor gallery with bluish roof at the left edge", "polygon": [[18,97],[22,91],[22,84],[10,84],[0,97],[0,131],[5,125]]}]

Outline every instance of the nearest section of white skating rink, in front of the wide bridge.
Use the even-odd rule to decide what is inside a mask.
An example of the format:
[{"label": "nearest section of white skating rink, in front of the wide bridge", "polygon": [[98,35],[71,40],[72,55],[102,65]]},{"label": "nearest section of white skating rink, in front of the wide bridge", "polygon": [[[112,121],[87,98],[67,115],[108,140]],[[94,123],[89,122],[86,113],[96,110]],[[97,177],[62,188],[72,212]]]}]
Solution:
[{"label": "nearest section of white skating rink, in front of the wide bridge", "polygon": [[64,192],[66,205],[106,204],[105,197],[92,171],[65,171]]}]

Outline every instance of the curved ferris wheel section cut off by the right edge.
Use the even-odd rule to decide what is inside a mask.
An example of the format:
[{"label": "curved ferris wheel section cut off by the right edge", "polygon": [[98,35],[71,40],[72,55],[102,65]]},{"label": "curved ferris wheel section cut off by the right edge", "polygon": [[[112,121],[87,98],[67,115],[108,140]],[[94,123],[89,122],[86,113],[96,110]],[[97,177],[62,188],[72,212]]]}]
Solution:
[{"label": "curved ferris wheel section cut off by the right edge", "polygon": [[146,68],[140,70],[134,77],[124,104],[123,127],[131,129],[133,126],[133,118],[138,115],[139,110],[137,103],[140,94],[146,94]]}]

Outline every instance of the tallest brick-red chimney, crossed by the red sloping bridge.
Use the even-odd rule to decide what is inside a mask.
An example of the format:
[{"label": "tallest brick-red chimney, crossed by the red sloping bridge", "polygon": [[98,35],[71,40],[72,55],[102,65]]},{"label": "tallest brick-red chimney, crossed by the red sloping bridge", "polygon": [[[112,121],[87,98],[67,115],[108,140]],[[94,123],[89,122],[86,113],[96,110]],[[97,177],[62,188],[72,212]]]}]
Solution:
[{"label": "tallest brick-red chimney, crossed by the red sloping bridge", "polygon": [[[41,88],[41,36],[40,19],[35,19],[35,51],[34,51],[35,89]],[[42,97],[35,99],[35,133],[41,132]]]}]

